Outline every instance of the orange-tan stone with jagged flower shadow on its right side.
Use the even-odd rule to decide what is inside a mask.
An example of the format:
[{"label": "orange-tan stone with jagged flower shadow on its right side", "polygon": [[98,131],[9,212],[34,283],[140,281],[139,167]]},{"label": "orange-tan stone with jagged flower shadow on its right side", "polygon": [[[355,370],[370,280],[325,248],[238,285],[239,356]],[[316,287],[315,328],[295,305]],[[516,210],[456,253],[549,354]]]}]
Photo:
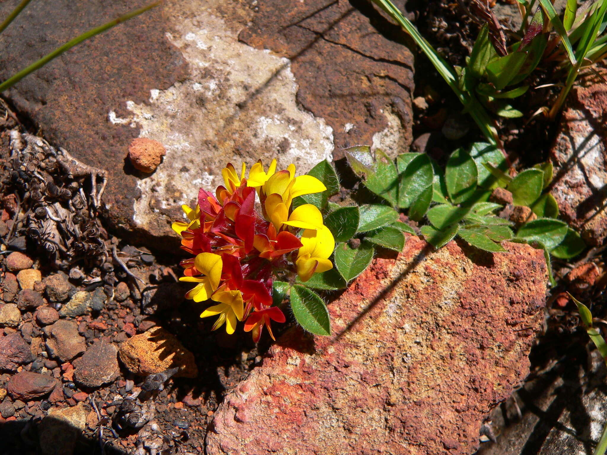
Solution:
[{"label": "orange-tan stone with jagged flower shadow on its right side", "polygon": [[120,345],[118,356],[129,371],[140,376],[175,367],[180,368],[175,377],[198,376],[192,352],[161,327],[151,328],[126,340]]}]

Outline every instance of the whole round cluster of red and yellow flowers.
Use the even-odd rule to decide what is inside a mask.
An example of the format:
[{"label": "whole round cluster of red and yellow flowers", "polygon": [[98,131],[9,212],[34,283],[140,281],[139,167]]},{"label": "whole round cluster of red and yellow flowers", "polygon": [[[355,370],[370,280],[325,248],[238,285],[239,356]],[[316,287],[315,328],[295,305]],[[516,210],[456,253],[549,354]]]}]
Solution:
[{"label": "whole round cluster of red and yellow flowers", "polygon": [[215,194],[200,189],[197,206],[183,206],[188,222],[175,221],[172,228],[181,235],[181,248],[192,254],[181,261],[180,280],[196,283],[186,298],[216,302],[200,317],[218,315],[213,330],[225,323],[228,334],[244,321],[257,342],[264,326],[274,339],[271,320],[285,322],[273,306],[274,277],[294,272],[307,281],[333,268],[328,258],[335,241],[316,206],[292,208],[294,198],[326,190],[317,178],[295,177],[293,164],[276,171],[276,160],[267,172],[258,161],[248,178],[245,173],[245,164],[240,175],[228,164],[222,170],[225,185]]}]

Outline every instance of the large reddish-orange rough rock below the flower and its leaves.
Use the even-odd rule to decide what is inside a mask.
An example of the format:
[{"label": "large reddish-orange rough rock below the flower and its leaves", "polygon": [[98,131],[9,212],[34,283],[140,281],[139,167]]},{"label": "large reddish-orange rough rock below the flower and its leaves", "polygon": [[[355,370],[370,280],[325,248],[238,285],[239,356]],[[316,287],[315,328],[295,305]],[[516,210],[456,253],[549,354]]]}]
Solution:
[{"label": "large reddish-orange rough rock below the flower and its leaves", "polygon": [[329,305],[333,335],[292,329],[226,396],[207,453],[473,453],[528,373],[546,264],[526,245],[462,245],[409,237],[376,259]]}]

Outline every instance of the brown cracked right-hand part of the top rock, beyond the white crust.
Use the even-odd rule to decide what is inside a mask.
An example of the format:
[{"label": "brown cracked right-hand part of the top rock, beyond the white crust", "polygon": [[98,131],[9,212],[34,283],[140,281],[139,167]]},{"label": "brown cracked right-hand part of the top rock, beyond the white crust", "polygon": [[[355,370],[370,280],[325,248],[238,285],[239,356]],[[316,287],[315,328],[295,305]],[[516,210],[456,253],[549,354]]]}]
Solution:
[{"label": "brown cracked right-hand part of the top rock, beyond the white crust", "polygon": [[385,152],[396,156],[412,143],[413,55],[404,32],[370,3],[311,0],[285,8],[283,0],[259,0],[259,14],[239,38],[291,59],[297,101],[333,127],[335,159],[388,127],[390,135],[402,132]]}]

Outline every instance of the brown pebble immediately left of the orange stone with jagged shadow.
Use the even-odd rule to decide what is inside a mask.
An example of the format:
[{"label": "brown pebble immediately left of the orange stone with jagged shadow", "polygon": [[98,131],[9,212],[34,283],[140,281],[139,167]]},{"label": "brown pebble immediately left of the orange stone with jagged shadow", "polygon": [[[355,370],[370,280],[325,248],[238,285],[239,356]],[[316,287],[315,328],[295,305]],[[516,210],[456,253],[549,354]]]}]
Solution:
[{"label": "brown pebble immediately left of the orange stone with jagged shadow", "polygon": [[74,379],[86,387],[99,387],[120,376],[118,348],[112,343],[93,343],[73,361]]}]

